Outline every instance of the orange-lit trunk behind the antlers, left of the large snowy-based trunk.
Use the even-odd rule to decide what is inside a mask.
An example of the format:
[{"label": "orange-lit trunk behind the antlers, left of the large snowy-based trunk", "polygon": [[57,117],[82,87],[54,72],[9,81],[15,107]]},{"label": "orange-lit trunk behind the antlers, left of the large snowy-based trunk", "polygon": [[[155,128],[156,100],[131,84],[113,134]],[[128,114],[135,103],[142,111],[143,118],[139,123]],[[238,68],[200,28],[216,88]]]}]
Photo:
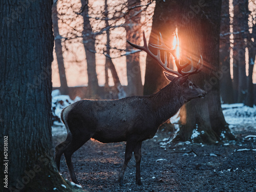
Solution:
[{"label": "orange-lit trunk behind the antlers, left of the large snowy-based trunk", "polygon": [[[172,47],[173,33],[177,27],[178,7],[176,1],[156,1],[156,7],[153,15],[152,31],[148,44],[157,44],[159,32],[163,36],[164,42],[168,47]],[[156,49],[150,48],[154,54]],[[161,52],[161,58],[164,60],[164,54]],[[150,95],[162,89],[168,81],[163,76],[163,69],[151,57],[146,57],[146,71],[143,94]]]}]

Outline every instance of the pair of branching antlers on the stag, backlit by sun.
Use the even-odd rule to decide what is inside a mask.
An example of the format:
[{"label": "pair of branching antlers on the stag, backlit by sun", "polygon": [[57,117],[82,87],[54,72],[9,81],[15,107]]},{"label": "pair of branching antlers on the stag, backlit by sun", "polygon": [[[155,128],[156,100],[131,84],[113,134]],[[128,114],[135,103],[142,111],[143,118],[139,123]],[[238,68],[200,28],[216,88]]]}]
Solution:
[{"label": "pair of branching antlers on the stag, backlit by sun", "polygon": [[[175,53],[175,50],[177,48],[177,45],[175,47],[175,49],[170,49],[168,48],[164,42],[163,42],[163,37],[160,33],[160,40],[161,40],[161,45],[156,45],[156,44],[151,44],[150,46],[151,47],[154,47],[157,49],[157,55],[153,54],[150,49],[148,49],[148,46],[147,46],[147,42],[146,42],[146,37],[145,37],[145,33],[144,31],[142,31],[143,33],[143,42],[144,42],[144,45],[143,46],[138,46],[138,45],[135,45],[135,44],[132,44],[132,42],[130,42],[129,40],[127,40],[127,42],[129,42],[129,44],[139,50],[142,50],[142,51],[145,51],[148,55],[150,55],[152,58],[154,58],[158,64],[166,71],[166,72],[169,72],[169,73],[172,73],[172,74],[175,74],[177,76],[184,76],[184,75],[191,75],[191,74],[195,74],[195,73],[198,73],[202,70],[202,67],[203,67],[203,58],[201,56],[201,59],[199,59],[198,63],[197,63],[197,68],[194,70],[194,66],[193,66],[193,62],[191,60],[191,58],[188,60],[188,62],[186,62],[184,65],[180,65],[180,59],[177,59],[176,57],[176,53]],[[177,35],[176,33],[174,33],[176,38],[177,38]],[[160,50],[164,51],[164,63],[162,62],[161,58],[160,58]],[[176,63],[176,66],[177,66],[177,69],[178,71],[174,71],[172,69],[169,69],[167,68],[167,55],[166,55],[166,52],[169,52],[170,54],[172,54],[175,58],[175,63]],[[202,60],[202,63],[201,63],[201,60]],[[187,67],[188,65],[190,65],[190,63],[192,63],[191,65],[191,69],[188,71],[188,72],[184,72],[182,71],[185,67]],[[200,65],[200,66],[199,66]],[[198,67],[199,66],[199,67]]]}]

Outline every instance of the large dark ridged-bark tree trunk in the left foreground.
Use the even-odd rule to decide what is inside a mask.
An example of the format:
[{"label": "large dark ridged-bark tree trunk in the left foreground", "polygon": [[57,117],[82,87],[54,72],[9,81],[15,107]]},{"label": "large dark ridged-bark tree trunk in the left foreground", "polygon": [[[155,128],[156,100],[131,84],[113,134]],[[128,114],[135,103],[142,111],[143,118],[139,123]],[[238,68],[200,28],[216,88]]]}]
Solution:
[{"label": "large dark ridged-bark tree trunk in the left foreground", "polygon": [[[52,1],[5,1],[0,9],[0,140],[8,147],[0,190],[74,191],[53,159]],[[2,157],[3,150],[1,145]]]}]

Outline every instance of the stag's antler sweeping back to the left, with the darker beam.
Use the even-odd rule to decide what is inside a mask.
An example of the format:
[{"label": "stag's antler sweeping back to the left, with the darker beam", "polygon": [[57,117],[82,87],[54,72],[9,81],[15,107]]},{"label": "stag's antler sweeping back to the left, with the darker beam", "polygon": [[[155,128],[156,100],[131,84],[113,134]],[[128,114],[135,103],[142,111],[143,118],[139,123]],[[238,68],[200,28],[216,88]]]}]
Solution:
[{"label": "stag's antler sweeping back to the left, with the darker beam", "polygon": [[[155,60],[158,62],[158,64],[159,64],[165,71],[167,71],[167,72],[169,72],[169,73],[173,73],[173,74],[178,75],[178,76],[182,76],[178,71],[174,71],[174,70],[172,70],[172,69],[167,68],[167,63],[168,63],[168,62],[167,62],[166,50],[165,50],[165,52],[164,52],[164,63],[163,63],[162,60],[161,60],[161,58],[160,58],[160,50],[162,50],[162,49],[158,49],[158,50],[157,50],[157,55],[153,54],[153,53],[150,51],[150,49],[148,49],[144,31],[142,31],[142,33],[143,33],[143,42],[144,42],[144,45],[143,45],[143,46],[138,46],[138,45],[132,44],[132,42],[130,42],[129,40],[127,40],[127,42],[129,42],[129,44],[130,44],[131,46],[133,46],[133,47],[135,47],[135,48],[137,48],[137,49],[139,49],[139,50],[145,51],[148,55],[150,55],[153,59],[155,59]],[[161,45],[156,45],[156,46],[165,46],[165,45],[163,44],[163,41],[162,41],[162,44],[161,44]],[[166,47],[166,46],[165,46],[165,47]],[[167,48],[167,47],[166,47],[166,48]],[[165,49],[166,49],[166,48],[165,48]],[[173,50],[168,48],[168,52],[172,53],[171,51],[173,51]]]}]

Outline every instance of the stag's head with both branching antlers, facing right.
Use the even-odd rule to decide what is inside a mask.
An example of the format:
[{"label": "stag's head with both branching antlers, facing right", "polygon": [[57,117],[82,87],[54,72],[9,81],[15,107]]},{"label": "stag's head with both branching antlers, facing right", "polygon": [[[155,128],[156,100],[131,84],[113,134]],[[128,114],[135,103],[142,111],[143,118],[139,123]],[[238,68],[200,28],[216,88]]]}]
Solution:
[{"label": "stag's head with both branching antlers, facing right", "polygon": [[[177,35],[175,33],[175,36],[177,38]],[[192,74],[196,74],[199,73],[202,70],[203,67],[203,58],[201,56],[201,59],[199,59],[196,68],[194,69],[194,65],[193,62],[190,59],[188,59],[188,61],[186,63],[184,63],[183,65],[180,64],[180,58],[177,58],[175,51],[175,49],[170,49],[168,48],[164,42],[163,42],[163,38],[162,35],[160,33],[160,40],[161,40],[161,44],[160,45],[155,45],[155,44],[151,44],[151,47],[154,47],[157,49],[157,55],[153,54],[150,49],[147,46],[147,42],[146,42],[146,37],[145,37],[145,33],[143,31],[143,42],[144,45],[143,46],[138,46],[133,44],[132,42],[128,41],[129,44],[139,50],[145,51],[148,55],[150,55],[152,58],[154,58],[158,64],[163,68],[163,74],[165,76],[165,78],[169,81],[176,81],[179,86],[181,87],[181,95],[184,97],[184,101],[187,102],[191,99],[194,98],[204,98],[206,95],[206,92],[204,90],[202,90],[201,88],[199,88],[195,83],[193,83],[192,81],[190,81],[188,79],[189,75]],[[160,50],[164,51],[164,63],[162,62],[161,58],[160,58]],[[172,54],[175,58],[175,64],[177,66],[177,71],[174,71],[172,69],[169,69],[167,67],[168,62],[167,62],[167,54],[166,52],[169,52],[170,54]],[[191,65],[190,65],[191,64]],[[186,68],[187,66],[191,66],[191,69],[187,72],[183,71],[184,68]],[[174,76],[175,75],[175,76]]]}]

